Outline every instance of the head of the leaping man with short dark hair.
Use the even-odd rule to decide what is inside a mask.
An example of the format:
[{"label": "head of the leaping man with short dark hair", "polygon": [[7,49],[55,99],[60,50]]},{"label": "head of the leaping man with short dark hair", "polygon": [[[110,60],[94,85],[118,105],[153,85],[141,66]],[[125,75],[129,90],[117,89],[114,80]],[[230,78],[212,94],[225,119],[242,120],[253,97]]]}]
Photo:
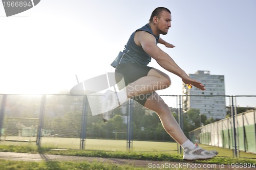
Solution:
[{"label": "head of the leaping man with short dark hair", "polygon": [[165,7],[156,8],[150,17],[150,24],[156,27],[157,34],[167,34],[172,17],[170,10]]}]

